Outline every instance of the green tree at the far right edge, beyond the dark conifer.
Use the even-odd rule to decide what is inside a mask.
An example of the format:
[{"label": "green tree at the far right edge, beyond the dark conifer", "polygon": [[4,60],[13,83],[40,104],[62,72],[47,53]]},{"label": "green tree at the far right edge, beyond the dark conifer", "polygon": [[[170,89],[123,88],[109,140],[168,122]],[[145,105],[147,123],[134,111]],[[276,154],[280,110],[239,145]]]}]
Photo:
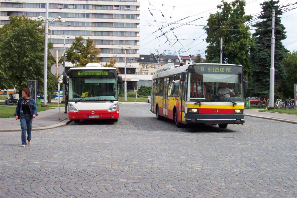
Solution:
[{"label": "green tree at the far right edge, beyond the dark conifer", "polygon": [[284,96],[286,99],[294,98],[294,84],[297,84],[297,52],[288,52],[286,58],[283,59],[283,64],[287,74]]}]

